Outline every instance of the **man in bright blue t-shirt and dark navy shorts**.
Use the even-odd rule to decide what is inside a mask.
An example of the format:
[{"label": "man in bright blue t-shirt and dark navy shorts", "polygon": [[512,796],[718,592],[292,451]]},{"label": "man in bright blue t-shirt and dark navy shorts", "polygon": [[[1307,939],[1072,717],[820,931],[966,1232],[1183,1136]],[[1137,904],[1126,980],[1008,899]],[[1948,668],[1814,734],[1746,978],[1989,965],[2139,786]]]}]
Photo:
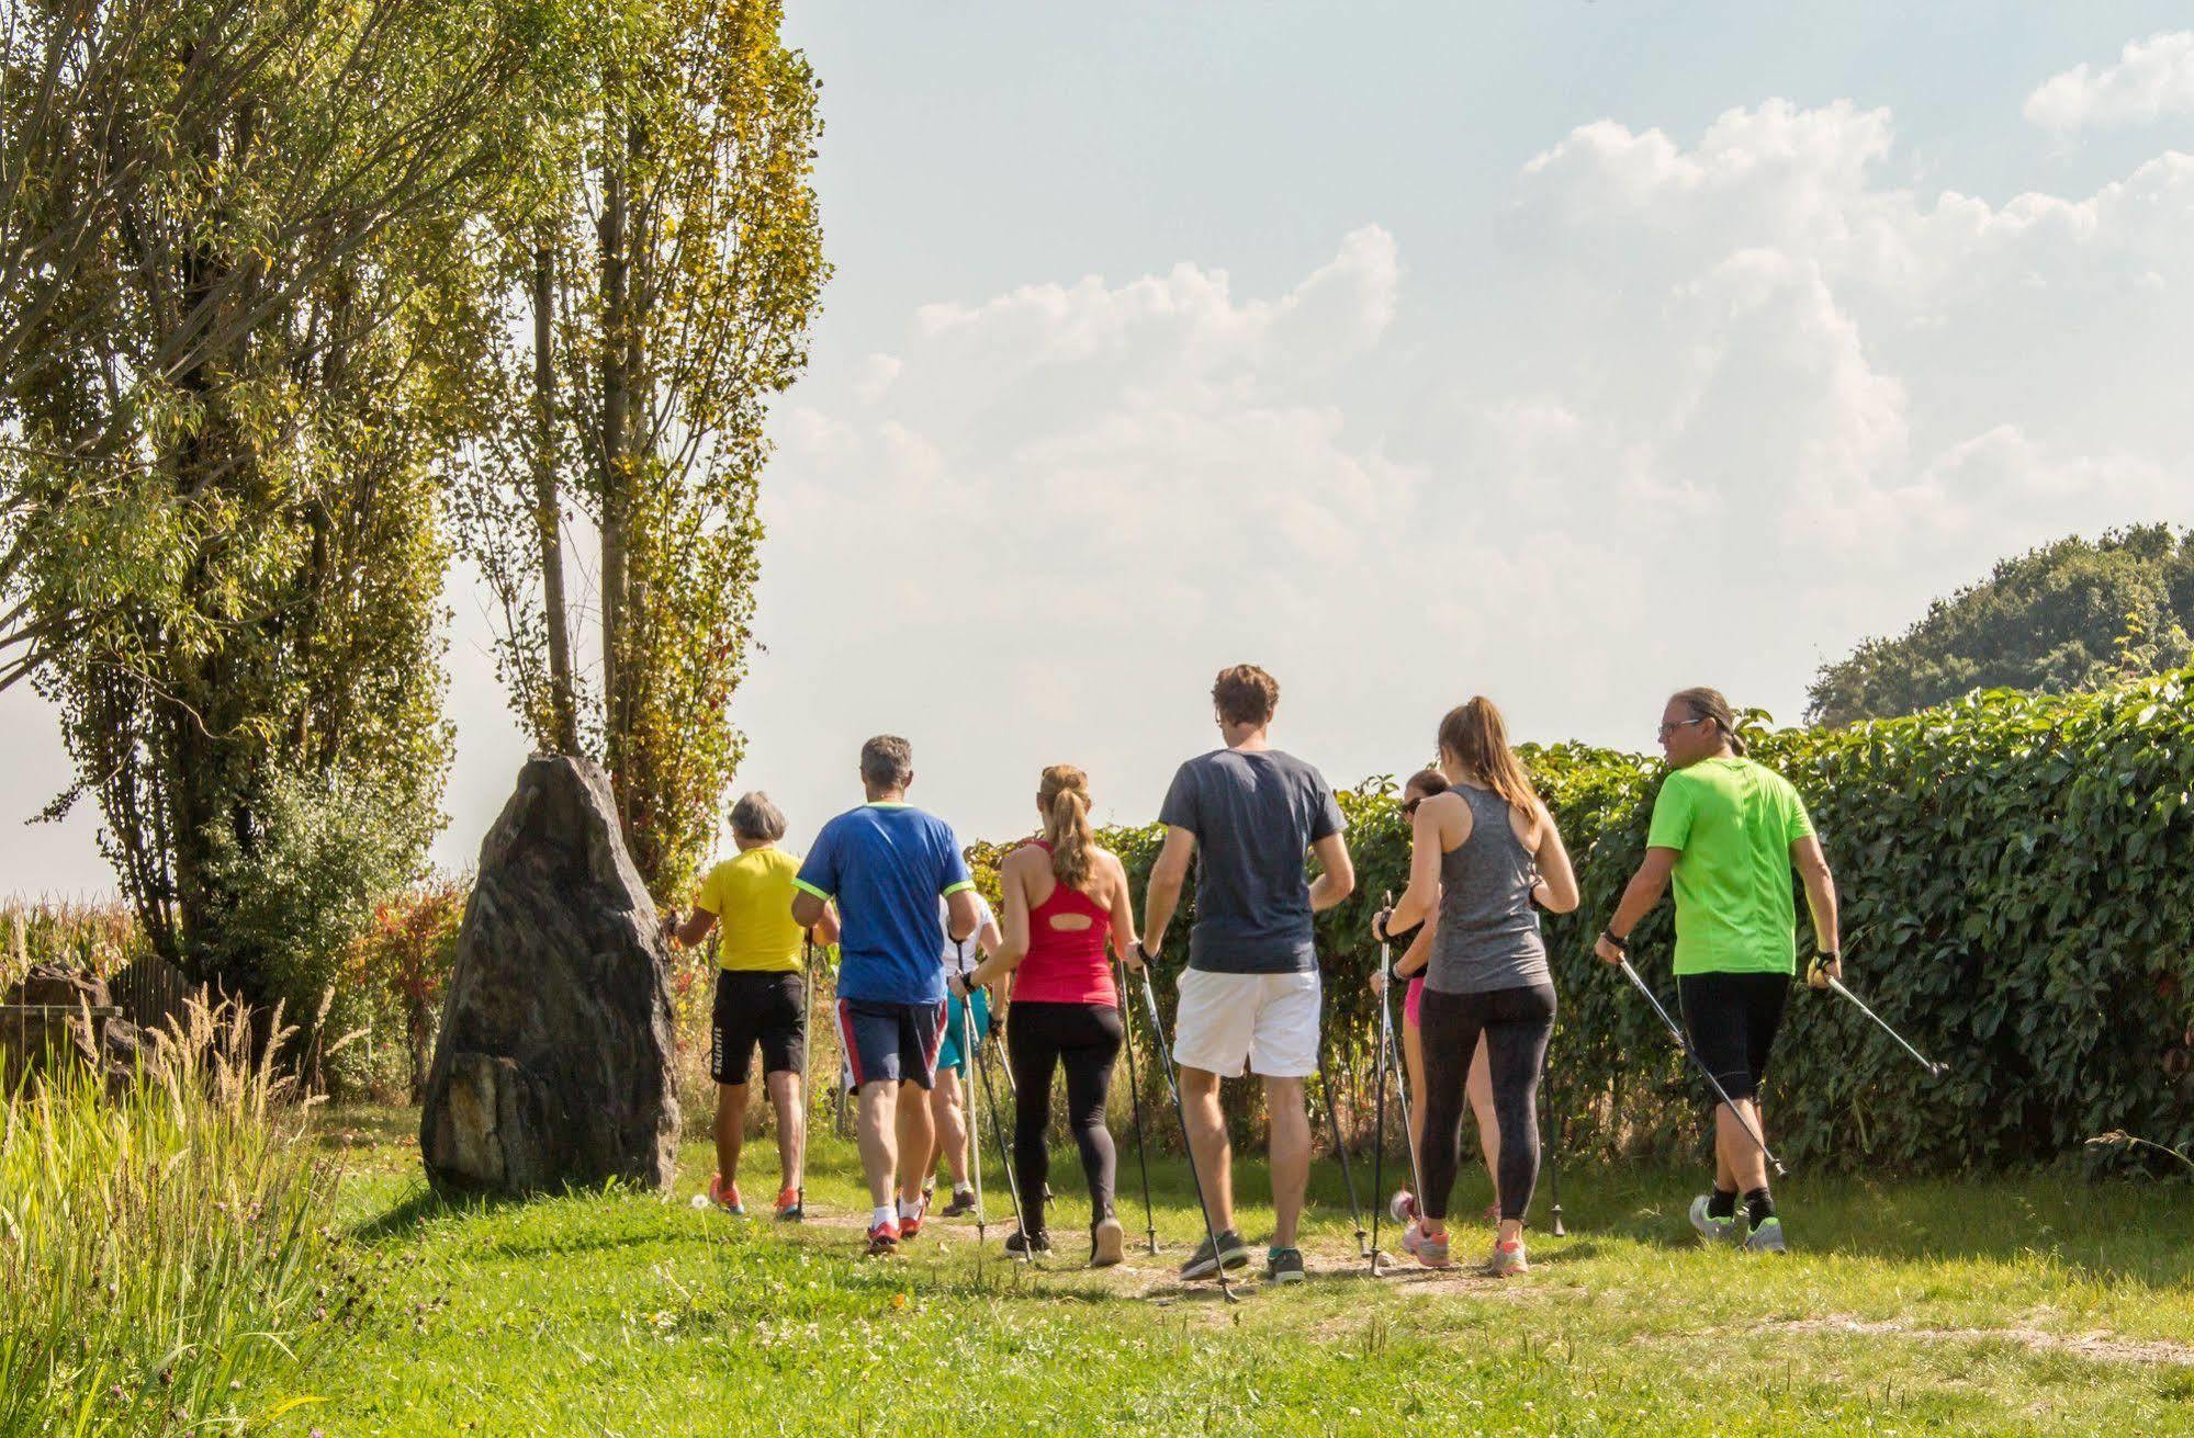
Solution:
[{"label": "man in bright blue t-shirt and dark navy shorts", "polygon": [[[974,934],[974,881],[943,820],[906,802],[915,752],[878,734],[860,745],[869,802],[816,835],[792,879],[792,918],[812,925],[838,901],[838,1039],[860,1092],[860,1168],[869,1179],[869,1252],[891,1254],[921,1232],[921,1171],[900,1153],[930,1153],[930,1105],[906,1085],[937,1081],[946,1022],[946,938]],[[937,899],[946,914],[939,918]],[[897,1210],[893,1210],[897,1179]]]}]

